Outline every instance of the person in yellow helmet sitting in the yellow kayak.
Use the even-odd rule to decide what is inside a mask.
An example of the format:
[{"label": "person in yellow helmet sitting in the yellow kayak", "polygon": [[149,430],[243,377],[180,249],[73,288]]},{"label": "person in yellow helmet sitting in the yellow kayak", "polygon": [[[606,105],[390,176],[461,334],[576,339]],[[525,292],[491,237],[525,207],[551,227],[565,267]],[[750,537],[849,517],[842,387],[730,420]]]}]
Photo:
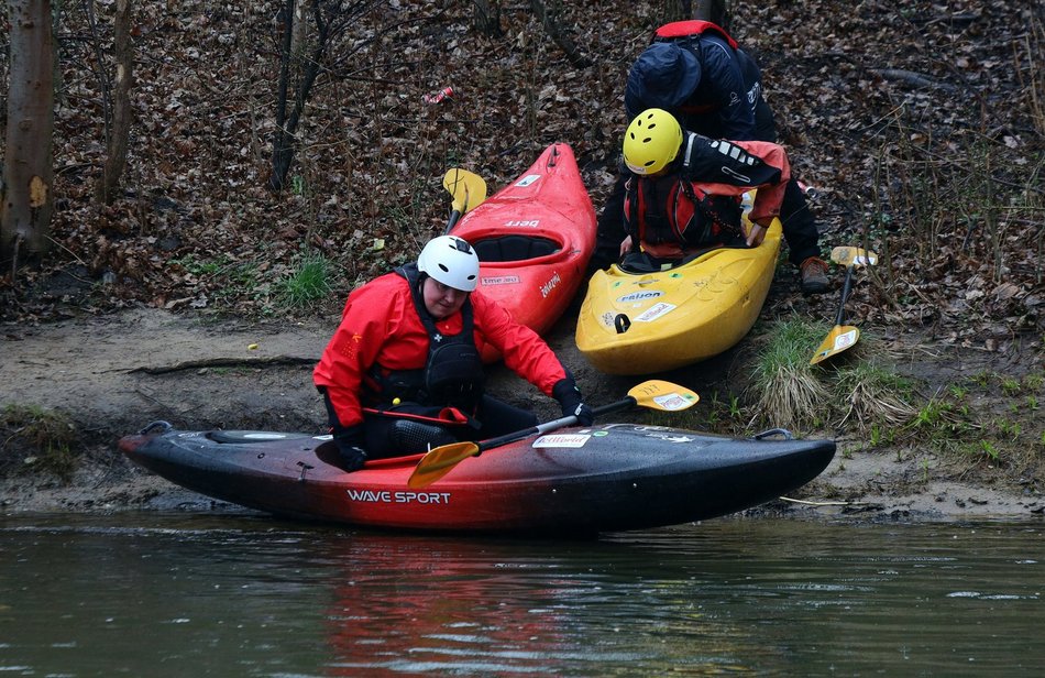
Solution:
[{"label": "person in yellow helmet sitting in the yellow kayak", "polygon": [[[686,132],[657,108],[635,117],[623,151],[629,176],[620,255],[641,251],[654,267],[713,247],[761,243],[791,178],[780,145]],[[748,215],[752,223],[744,232],[739,196],[751,188],[758,188]]]}]

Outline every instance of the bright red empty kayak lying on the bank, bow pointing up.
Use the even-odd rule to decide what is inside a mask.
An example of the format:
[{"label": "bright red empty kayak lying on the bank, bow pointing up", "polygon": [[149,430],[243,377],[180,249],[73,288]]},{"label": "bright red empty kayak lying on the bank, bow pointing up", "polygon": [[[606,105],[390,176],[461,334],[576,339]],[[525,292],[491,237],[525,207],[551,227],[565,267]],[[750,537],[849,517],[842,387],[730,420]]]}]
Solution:
[{"label": "bright red empty kayak lying on the bank, bow pointing up", "polygon": [[[595,249],[595,209],[573,150],[564,143],[544,149],[451,232],[475,248],[483,294],[543,335],[570,305]],[[498,358],[493,349],[483,356]]]}]

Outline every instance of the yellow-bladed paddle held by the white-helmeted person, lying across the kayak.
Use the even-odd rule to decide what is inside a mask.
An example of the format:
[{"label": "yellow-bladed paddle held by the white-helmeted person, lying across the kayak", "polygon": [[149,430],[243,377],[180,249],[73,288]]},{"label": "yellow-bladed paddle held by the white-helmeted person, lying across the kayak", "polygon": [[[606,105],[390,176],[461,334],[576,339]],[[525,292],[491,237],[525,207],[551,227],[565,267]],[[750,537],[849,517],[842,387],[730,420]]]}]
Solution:
[{"label": "yellow-bladed paddle held by the white-helmeted person, lying across the kayak", "polygon": [[[671,382],[653,379],[634,386],[628,391],[626,398],[596,407],[593,413],[595,416],[601,416],[635,406],[659,409],[661,412],[678,412],[692,407],[700,400],[701,396],[689,389],[684,389]],[[410,474],[407,484],[411,488],[426,488],[449,473],[453,467],[469,457],[476,457],[486,450],[492,450],[530,436],[547,434],[548,431],[573,424],[576,424],[576,417],[571,415],[569,417],[562,417],[561,419],[538,424],[525,430],[517,430],[497,438],[483,440],[482,442],[465,440],[463,442],[440,445],[421,457],[421,460],[417,462],[417,467],[414,469],[414,473]]]}]

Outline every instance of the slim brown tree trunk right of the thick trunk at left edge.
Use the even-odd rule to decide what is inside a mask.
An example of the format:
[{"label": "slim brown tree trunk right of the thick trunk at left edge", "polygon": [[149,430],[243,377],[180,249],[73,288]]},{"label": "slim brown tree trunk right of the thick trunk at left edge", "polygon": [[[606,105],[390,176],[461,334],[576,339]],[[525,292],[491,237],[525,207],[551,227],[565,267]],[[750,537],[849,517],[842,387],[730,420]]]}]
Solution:
[{"label": "slim brown tree trunk right of the thick trunk at left edge", "polygon": [[[113,55],[116,77],[112,87],[112,120],[108,139],[106,166],[95,187],[95,198],[106,205],[112,203],[117,186],[127,166],[127,149],[131,135],[131,87],[134,84],[134,45],[131,41],[132,0],[117,0],[113,25]],[[109,124],[110,121],[107,121]]]}]

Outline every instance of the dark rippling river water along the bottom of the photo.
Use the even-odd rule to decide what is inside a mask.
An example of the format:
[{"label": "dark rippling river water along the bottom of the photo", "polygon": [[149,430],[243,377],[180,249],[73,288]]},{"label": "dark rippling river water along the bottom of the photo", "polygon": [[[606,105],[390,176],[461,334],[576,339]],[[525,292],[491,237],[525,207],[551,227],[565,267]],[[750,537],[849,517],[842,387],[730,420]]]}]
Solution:
[{"label": "dark rippling river water along the bottom of the photo", "polygon": [[1043,532],[727,518],[570,542],[0,516],[0,675],[1038,675]]}]

